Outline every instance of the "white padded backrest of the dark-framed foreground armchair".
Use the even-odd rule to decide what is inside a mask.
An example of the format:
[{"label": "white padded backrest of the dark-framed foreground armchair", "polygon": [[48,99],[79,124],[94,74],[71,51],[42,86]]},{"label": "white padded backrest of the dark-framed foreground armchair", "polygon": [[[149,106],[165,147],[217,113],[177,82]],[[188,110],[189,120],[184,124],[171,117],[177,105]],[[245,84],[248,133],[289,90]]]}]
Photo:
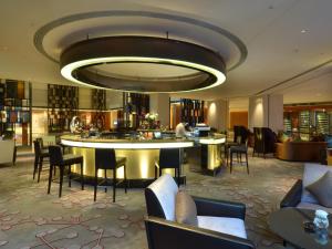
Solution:
[{"label": "white padded backrest of the dark-framed foreground armchair", "polygon": [[178,187],[169,174],[164,174],[148,188],[156,195],[167,220],[175,221],[175,198]]}]

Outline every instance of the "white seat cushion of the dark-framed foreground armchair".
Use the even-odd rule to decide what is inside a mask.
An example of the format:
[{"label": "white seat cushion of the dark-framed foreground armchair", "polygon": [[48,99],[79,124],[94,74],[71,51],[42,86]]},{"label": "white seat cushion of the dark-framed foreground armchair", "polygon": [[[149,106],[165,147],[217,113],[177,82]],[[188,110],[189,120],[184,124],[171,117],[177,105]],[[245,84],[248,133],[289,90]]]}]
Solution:
[{"label": "white seat cushion of the dark-framed foreground armchair", "polygon": [[198,227],[247,239],[245,221],[238,218],[197,216]]}]

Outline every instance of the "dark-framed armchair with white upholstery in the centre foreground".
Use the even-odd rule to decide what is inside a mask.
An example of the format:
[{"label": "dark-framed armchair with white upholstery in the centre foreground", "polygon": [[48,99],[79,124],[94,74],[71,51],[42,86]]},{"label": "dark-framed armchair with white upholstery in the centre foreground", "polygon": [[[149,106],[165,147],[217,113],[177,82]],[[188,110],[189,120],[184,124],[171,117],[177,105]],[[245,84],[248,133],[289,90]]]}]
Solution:
[{"label": "dark-framed armchair with white upholstery in the centre foreground", "polygon": [[145,219],[149,249],[250,249],[243,204],[193,197],[198,226],[176,222],[178,187],[168,174],[145,189],[148,218]]}]

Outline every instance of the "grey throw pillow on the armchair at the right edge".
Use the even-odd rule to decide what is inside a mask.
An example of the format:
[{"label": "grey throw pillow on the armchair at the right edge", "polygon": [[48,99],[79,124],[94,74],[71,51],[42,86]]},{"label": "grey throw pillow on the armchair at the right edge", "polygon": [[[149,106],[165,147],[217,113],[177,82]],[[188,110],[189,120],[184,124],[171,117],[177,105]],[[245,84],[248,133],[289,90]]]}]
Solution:
[{"label": "grey throw pillow on the armchair at the right edge", "polygon": [[332,172],[326,172],[320,179],[307,186],[307,189],[322,206],[332,208]]}]

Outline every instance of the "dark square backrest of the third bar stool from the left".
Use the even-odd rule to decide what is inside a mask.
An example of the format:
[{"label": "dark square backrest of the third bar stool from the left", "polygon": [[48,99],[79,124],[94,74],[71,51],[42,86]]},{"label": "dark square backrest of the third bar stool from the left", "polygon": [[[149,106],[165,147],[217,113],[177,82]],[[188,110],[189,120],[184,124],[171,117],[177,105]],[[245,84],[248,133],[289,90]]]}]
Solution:
[{"label": "dark square backrest of the third bar stool from the left", "polygon": [[94,159],[96,168],[114,169],[116,167],[114,148],[96,148]]}]

